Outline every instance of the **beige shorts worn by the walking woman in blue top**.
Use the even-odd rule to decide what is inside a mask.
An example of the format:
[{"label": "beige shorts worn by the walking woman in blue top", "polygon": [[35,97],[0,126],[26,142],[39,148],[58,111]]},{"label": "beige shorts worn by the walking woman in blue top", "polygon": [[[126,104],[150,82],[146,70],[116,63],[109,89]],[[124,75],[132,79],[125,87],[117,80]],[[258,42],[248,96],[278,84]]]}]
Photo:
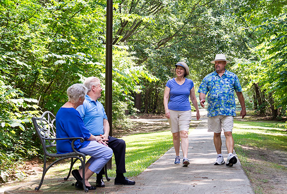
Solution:
[{"label": "beige shorts worn by the walking woman in blue top", "polygon": [[173,111],[169,110],[170,118],[167,119],[170,130],[172,133],[179,132],[181,130],[188,131],[191,121],[191,111]]}]

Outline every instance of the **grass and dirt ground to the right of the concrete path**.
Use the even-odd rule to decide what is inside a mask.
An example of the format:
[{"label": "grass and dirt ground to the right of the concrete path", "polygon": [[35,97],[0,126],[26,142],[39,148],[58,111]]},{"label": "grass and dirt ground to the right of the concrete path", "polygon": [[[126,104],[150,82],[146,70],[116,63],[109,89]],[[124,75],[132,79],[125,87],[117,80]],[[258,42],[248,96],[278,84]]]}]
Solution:
[{"label": "grass and dirt ground to the right of the concrete path", "polygon": [[234,119],[234,149],[256,194],[287,191],[287,130],[278,123]]}]

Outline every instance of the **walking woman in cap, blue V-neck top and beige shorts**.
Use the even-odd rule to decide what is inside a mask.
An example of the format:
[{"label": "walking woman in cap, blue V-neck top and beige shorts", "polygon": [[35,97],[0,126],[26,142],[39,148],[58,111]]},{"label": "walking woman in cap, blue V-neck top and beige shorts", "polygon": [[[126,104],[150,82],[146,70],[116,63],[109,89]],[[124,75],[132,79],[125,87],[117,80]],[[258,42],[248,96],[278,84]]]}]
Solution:
[{"label": "walking woman in cap, blue V-neck top and beige shorts", "polygon": [[[196,108],[197,120],[200,118],[195,95],[194,83],[185,78],[189,75],[189,68],[184,62],[175,65],[176,78],[167,81],[164,89],[163,105],[165,116],[169,122],[176,151],[175,164],[180,164],[179,147],[183,153],[183,165],[188,166],[188,129],[191,121],[191,106],[189,97]],[[168,102],[169,99],[169,102]]]}]

